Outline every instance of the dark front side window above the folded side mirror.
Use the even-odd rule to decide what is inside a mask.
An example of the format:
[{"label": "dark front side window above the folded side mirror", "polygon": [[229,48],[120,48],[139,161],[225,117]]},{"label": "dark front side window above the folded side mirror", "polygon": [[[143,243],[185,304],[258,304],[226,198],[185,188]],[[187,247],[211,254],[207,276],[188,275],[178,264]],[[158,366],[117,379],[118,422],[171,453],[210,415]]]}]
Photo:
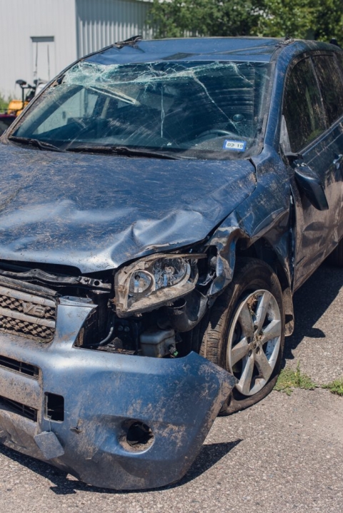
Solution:
[{"label": "dark front side window above the folded side mirror", "polygon": [[294,152],[325,130],[322,101],[310,59],[299,61],[292,69],[286,83],[283,113]]}]

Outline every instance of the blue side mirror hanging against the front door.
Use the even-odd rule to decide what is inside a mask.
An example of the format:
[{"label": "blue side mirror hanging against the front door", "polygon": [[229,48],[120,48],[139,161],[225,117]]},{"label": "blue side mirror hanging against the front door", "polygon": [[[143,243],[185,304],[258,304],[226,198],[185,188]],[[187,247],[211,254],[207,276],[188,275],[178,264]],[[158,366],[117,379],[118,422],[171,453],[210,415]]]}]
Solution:
[{"label": "blue side mirror hanging against the front door", "polygon": [[302,166],[294,168],[294,178],[299,189],[303,191],[314,208],[317,208],[317,210],[329,210],[327,196],[317,173],[314,173],[309,166],[302,164]]}]

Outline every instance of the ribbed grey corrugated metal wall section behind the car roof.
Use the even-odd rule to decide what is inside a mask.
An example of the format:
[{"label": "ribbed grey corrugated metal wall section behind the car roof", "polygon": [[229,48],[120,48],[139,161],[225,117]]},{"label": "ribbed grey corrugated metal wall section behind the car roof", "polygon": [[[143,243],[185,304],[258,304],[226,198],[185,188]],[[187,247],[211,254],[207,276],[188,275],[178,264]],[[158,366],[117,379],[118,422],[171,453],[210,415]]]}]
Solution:
[{"label": "ribbed grey corrugated metal wall section behind the car roof", "polygon": [[149,1],[141,0],[76,0],[78,56],[137,34],[149,36],[149,7]]}]

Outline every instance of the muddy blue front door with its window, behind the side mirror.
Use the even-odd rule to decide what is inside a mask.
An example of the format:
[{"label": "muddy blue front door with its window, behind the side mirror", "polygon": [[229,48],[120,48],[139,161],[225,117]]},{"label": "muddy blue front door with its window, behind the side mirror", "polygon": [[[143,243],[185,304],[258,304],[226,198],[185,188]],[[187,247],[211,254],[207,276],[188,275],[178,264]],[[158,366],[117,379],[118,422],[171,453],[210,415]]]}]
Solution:
[{"label": "muddy blue front door with its window, behind the side mirror", "polygon": [[[337,244],[341,209],[342,173],[337,169],[335,134],[327,118],[319,81],[309,55],[292,63],[287,76],[284,105],[289,147],[289,174],[296,210],[294,289],[318,267]],[[298,157],[296,157],[298,155]],[[314,207],[299,185],[297,171],[313,174],[322,183],[327,210]]]}]

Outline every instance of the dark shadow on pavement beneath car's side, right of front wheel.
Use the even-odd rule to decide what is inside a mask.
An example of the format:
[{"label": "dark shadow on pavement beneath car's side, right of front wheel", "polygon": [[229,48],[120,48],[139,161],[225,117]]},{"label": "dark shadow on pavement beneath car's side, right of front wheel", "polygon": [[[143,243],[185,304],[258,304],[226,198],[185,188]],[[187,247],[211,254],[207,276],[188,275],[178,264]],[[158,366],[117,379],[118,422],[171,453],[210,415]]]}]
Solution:
[{"label": "dark shadow on pavement beneath car's side, right of front wheel", "polygon": [[284,362],[294,360],[292,351],[304,337],[325,338],[325,333],[314,327],[343,287],[343,269],[324,263],[294,294],[295,329],[286,338]]}]

